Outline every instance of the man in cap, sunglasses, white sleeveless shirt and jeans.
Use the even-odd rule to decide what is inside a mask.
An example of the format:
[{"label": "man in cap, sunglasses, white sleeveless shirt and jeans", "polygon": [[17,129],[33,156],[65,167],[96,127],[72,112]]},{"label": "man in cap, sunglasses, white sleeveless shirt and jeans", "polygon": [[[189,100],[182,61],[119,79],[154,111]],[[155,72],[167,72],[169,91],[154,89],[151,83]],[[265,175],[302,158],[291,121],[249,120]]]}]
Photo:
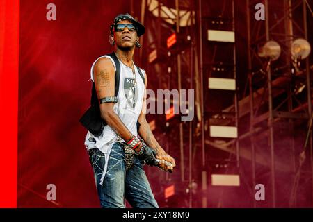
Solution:
[{"label": "man in cap, sunglasses, white sleeveless shirt and jeans", "polygon": [[158,207],[143,163],[170,172],[175,167],[145,119],[147,75],[133,62],[143,33],[144,26],[131,15],[118,15],[109,36],[114,53],[98,58],[91,67],[95,106],[106,125],[97,136],[89,130],[85,144],[102,207],[125,207],[125,198],[132,207]]}]

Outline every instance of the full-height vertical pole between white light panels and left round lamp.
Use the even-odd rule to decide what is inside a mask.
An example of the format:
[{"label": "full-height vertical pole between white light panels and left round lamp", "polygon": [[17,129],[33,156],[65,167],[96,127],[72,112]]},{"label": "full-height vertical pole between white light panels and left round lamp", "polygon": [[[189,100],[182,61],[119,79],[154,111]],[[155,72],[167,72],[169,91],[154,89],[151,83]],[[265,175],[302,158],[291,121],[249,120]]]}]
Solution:
[{"label": "full-height vertical pole between white light panels and left round lamp", "polygon": [[[247,12],[247,43],[248,43],[248,73],[249,73],[249,93],[250,93],[250,144],[251,144],[251,163],[252,163],[252,194],[255,191],[255,144],[254,144],[254,133],[253,133],[253,119],[254,119],[254,109],[253,109],[253,87],[252,87],[252,61],[251,61],[251,32],[250,32],[250,0],[246,0],[246,12]],[[257,207],[257,202],[255,196],[252,195],[253,207]]]}]

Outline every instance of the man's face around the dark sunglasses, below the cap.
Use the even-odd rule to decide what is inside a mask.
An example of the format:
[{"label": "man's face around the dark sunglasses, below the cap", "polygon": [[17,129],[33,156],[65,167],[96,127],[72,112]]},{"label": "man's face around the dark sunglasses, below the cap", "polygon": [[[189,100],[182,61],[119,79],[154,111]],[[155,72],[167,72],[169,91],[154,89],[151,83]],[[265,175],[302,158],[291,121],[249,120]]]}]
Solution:
[{"label": "man's face around the dark sunglasses, below the cap", "polygon": [[[131,24],[131,22],[129,20],[123,20],[118,22],[118,24]],[[137,32],[129,31],[126,26],[123,31],[114,31],[114,40],[120,49],[133,48],[137,38]]]}]

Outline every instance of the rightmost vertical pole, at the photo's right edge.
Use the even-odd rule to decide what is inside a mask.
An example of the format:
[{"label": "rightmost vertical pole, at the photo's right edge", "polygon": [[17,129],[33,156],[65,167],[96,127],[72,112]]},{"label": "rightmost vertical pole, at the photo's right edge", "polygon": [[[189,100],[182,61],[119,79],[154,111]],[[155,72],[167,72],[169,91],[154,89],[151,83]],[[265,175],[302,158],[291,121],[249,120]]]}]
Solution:
[{"label": "rightmost vertical pole, at the photo's right edge", "polygon": [[[307,35],[307,5],[306,1],[303,0],[303,29],[305,33],[305,39],[308,40]],[[312,102],[311,102],[311,83],[310,83],[310,61],[309,57],[305,60],[305,72],[307,75],[307,111],[309,112],[309,119],[312,115]],[[313,205],[313,150],[312,150],[312,134],[309,138],[310,145],[310,162],[311,162],[311,176],[312,176],[312,205]]]}]

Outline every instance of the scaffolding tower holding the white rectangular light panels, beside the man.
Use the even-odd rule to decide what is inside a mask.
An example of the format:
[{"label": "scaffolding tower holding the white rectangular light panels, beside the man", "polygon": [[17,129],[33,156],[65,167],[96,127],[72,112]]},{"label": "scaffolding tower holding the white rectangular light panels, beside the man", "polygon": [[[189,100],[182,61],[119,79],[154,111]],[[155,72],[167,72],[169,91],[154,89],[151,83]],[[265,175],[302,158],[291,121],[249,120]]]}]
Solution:
[{"label": "scaffolding tower holding the white rectangular light panels, beside the man", "polygon": [[[142,10],[141,15],[142,20],[148,20],[150,24],[147,26],[144,41],[145,50],[148,53],[141,56],[147,60],[157,51],[155,60],[146,66],[161,74],[158,76],[158,82],[152,83],[152,85],[157,85],[156,89],[195,89],[195,119],[189,123],[178,123],[179,179],[180,182],[186,182],[186,187],[189,189],[188,207],[192,207],[193,203],[192,169],[193,165],[198,163],[201,169],[198,181],[200,181],[201,194],[203,194],[201,207],[207,207],[207,187],[210,180],[207,178],[209,175],[207,171],[210,168],[208,165],[211,160],[218,162],[214,158],[207,157],[210,146],[207,142],[214,141],[215,138],[214,136],[210,137],[209,126],[232,125],[236,129],[238,127],[235,44],[234,42],[209,42],[207,41],[207,30],[204,30],[207,26],[212,26],[217,30],[234,32],[234,2],[225,1],[223,3],[223,7],[218,12],[218,15],[222,17],[218,17],[218,15],[216,17],[202,16],[203,7],[202,1],[175,1],[175,4],[174,1],[143,1],[142,8],[145,10]],[[230,10],[225,10],[225,8],[230,8]],[[172,33],[176,33],[177,43],[167,48],[166,39]],[[204,38],[206,39],[204,40]],[[204,41],[206,41],[205,44]],[[207,57],[206,53],[211,49],[214,49],[215,53]],[[225,56],[223,49],[230,49],[232,53]],[[182,70],[184,70],[184,80],[182,80]],[[235,108],[230,111],[223,111],[220,106],[209,110],[208,107],[211,105],[209,103],[204,105],[204,100],[208,96],[207,92],[218,90],[218,94],[221,95],[226,91],[229,92],[229,90],[223,89],[209,89],[208,80],[210,77],[216,77],[214,75],[217,70],[220,76],[224,75],[225,79],[234,80],[235,83],[234,89],[231,90],[232,97],[227,103],[234,104]],[[188,80],[186,80],[186,75]],[[214,79],[216,80],[216,78]],[[229,95],[227,93],[225,96]],[[235,144],[235,160],[232,160],[231,164],[239,167],[239,143]],[[188,147],[188,151],[184,147]],[[214,148],[214,146],[212,147]],[[199,152],[201,155],[198,155]],[[227,160],[225,160],[227,164],[230,164],[229,160],[230,158],[227,156]],[[166,176],[166,180],[168,179],[170,179],[169,176]]]}]

